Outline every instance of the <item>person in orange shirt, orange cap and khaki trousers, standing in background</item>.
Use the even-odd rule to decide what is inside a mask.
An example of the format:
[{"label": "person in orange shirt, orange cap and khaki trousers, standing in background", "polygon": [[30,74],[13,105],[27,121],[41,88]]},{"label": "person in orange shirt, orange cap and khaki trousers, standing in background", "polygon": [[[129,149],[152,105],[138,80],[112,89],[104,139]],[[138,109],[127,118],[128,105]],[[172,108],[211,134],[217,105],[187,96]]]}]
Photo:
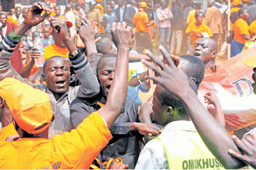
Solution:
[{"label": "person in orange shirt, orange cap and khaki trousers, standing in background", "polygon": [[149,26],[154,25],[155,21],[149,21],[145,10],[149,8],[146,2],[140,2],[139,11],[133,16],[133,27],[135,28],[135,39],[138,53],[142,54],[144,49],[153,51],[153,45],[149,37]]}]

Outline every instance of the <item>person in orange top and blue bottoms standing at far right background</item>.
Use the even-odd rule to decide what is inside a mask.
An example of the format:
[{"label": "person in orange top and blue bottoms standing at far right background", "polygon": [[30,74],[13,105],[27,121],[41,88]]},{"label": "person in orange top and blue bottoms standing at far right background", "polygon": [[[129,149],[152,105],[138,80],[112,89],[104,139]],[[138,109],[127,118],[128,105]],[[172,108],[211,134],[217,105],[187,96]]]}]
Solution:
[{"label": "person in orange top and blue bottoms standing at far right background", "polygon": [[238,15],[240,18],[235,21],[234,39],[231,42],[231,58],[239,54],[243,50],[244,44],[250,38],[249,26],[245,21],[249,18],[248,11],[241,8],[238,11]]}]

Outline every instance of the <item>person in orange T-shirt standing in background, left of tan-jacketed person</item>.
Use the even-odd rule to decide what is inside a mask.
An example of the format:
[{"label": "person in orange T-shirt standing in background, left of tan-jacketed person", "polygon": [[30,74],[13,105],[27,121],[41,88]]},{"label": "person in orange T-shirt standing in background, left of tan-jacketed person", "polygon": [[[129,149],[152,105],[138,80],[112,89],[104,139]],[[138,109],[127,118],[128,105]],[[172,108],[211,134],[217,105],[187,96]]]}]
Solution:
[{"label": "person in orange T-shirt standing in background, left of tan-jacketed person", "polygon": [[189,34],[192,35],[193,49],[195,48],[196,40],[198,38],[203,37],[203,35],[201,33],[207,33],[209,35],[209,37],[213,36],[209,27],[202,23],[203,18],[204,18],[204,14],[201,11],[196,11],[195,12],[196,22],[195,23],[192,22],[185,31],[185,33],[187,35],[189,35]]}]

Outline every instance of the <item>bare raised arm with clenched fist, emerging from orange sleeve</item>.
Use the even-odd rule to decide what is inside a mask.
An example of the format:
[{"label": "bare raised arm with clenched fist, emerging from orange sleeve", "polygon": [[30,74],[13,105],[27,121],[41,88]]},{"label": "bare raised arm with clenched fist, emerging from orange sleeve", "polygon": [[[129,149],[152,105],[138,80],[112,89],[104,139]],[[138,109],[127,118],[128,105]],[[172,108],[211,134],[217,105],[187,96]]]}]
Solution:
[{"label": "bare raised arm with clenched fist, emerging from orange sleeve", "polygon": [[110,86],[106,105],[98,110],[110,129],[120,115],[128,91],[128,53],[132,44],[131,28],[125,22],[112,24],[113,41],[117,47],[115,76]]}]

